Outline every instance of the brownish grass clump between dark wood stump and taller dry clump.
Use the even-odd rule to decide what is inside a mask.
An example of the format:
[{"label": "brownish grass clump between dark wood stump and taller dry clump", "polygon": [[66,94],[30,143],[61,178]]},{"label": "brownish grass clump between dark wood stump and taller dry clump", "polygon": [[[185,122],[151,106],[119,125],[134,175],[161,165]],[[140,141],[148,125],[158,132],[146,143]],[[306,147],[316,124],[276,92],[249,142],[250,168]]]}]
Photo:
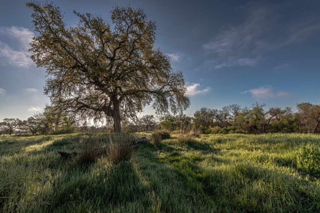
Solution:
[{"label": "brownish grass clump between dark wood stump and taller dry clump", "polygon": [[106,140],[97,136],[84,137],[78,144],[78,162],[80,164],[95,163],[102,154]]}]

